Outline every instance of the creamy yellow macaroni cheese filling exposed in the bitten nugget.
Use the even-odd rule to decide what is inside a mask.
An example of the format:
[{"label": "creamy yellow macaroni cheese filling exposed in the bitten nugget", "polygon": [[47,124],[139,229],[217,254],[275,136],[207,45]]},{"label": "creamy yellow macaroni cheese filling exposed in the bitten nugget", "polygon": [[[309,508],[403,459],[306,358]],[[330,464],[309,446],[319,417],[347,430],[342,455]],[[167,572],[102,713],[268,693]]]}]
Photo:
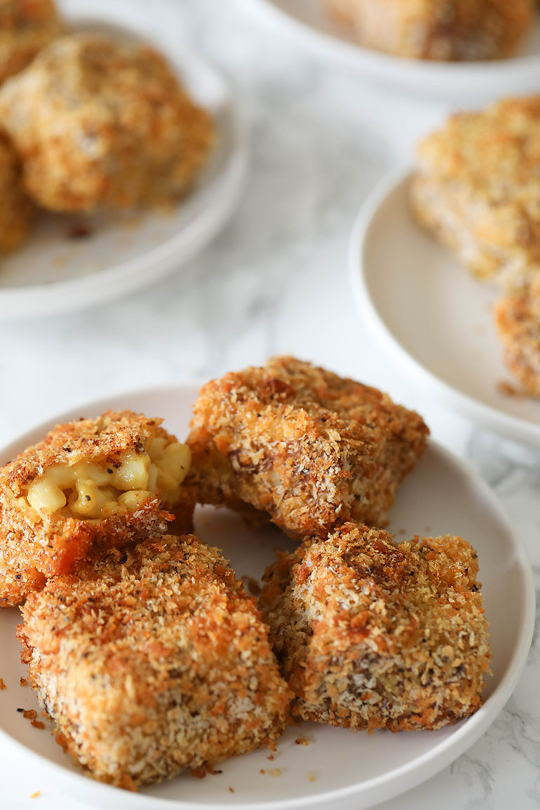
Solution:
[{"label": "creamy yellow macaroni cheese filling exposed in the bitten nugget", "polygon": [[142,453],[128,450],[113,464],[80,461],[49,467],[28,485],[26,501],[41,516],[60,511],[66,518],[105,518],[133,510],[156,492],[172,506],[190,463],[187,445],[154,437]]}]

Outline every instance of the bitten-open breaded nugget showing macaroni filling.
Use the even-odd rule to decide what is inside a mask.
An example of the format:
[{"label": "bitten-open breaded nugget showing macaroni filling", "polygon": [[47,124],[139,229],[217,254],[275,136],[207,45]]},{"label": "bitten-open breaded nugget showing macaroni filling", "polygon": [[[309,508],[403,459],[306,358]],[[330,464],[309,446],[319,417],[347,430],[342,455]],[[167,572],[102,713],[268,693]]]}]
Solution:
[{"label": "bitten-open breaded nugget showing macaroni filling", "polygon": [[189,448],[131,411],[59,424],[0,469],[0,605],[19,604],[95,545],[189,531]]}]

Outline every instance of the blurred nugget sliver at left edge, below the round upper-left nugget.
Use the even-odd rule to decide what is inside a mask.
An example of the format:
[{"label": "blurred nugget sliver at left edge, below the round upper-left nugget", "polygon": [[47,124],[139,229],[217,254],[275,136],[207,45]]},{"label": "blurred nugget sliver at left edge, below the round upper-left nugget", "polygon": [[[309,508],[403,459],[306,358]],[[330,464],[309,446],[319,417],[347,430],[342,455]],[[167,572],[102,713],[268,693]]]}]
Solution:
[{"label": "blurred nugget sliver at left edge, below the round upper-left nugget", "polygon": [[23,190],[19,159],[0,134],[0,253],[10,253],[26,237],[34,207]]}]

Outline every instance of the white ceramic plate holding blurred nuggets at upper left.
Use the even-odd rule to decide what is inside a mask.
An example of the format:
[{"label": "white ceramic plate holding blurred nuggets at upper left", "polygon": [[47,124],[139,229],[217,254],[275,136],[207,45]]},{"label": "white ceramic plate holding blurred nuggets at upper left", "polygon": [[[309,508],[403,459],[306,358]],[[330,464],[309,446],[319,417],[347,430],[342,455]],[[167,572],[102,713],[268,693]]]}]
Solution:
[{"label": "white ceramic plate holding blurred nuggets at upper left", "polygon": [[[189,93],[212,113],[217,145],[198,185],[167,215],[120,212],[87,218],[40,212],[28,241],[0,262],[0,318],[73,311],[107,303],[179,269],[219,232],[244,180],[247,147],[232,93],[221,75],[169,39],[149,38],[141,25],[117,19],[113,4],[84,17],[63,16],[75,29],[93,28],[151,41]],[[85,229],[86,237],[76,234]]]}]

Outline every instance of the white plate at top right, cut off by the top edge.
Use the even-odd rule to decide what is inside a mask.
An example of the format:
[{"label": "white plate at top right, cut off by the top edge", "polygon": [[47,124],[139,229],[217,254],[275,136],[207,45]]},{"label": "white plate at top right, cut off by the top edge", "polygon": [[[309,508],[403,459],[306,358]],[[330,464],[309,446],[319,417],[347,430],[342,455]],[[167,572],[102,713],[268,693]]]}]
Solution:
[{"label": "white plate at top right, cut off by the top edge", "polygon": [[377,53],[355,44],[334,23],[324,0],[241,0],[265,23],[289,32],[325,58],[361,70],[397,88],[463,104],[540,89],[540,23],[517,56],[490,62],[421,62]]}]

